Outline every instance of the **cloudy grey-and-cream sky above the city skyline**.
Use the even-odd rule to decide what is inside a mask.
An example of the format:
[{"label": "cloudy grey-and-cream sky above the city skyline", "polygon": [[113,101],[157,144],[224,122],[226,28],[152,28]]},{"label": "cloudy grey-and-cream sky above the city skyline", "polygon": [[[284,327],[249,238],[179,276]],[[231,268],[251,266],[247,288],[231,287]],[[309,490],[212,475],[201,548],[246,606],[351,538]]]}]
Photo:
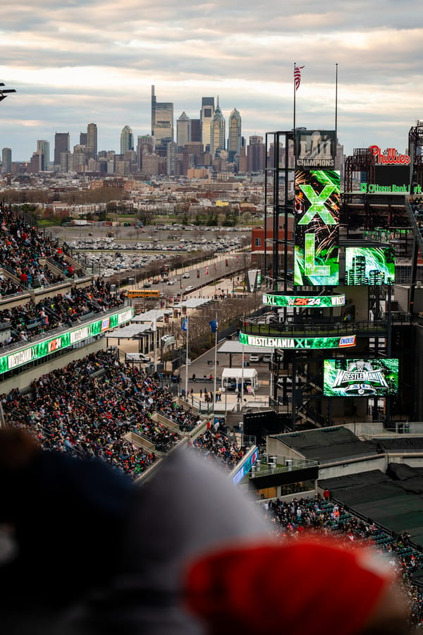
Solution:
[{"label": "cloudy grey-and-cream sky above the city skyline", "polygon": [[[322,8],[326,7],[326,8]],[[236,107],[243,135],[293,126],[293,65],[302,69],[296,123],[335,126],[354,147],[403,152],[423,119],[420,0],[16,0],[0,20],[0,149],[30,159],[37,139],[97,123],[99,150],[120,150],[123,126],[151,133],[151,85],[175,119],[198,118],[202,96]]]}]

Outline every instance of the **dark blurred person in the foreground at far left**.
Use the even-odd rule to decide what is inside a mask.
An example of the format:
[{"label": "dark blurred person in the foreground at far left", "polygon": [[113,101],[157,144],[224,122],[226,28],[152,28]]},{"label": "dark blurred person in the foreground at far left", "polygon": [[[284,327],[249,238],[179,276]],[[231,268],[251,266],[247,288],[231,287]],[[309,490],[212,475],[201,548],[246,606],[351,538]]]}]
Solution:
[{"label": "dark blurred person in the foreground at far left", "polygon": [[0,429],[0,483],[0,629],[67,633],[76,608],[116,576],[135,486],[18,428]]}]

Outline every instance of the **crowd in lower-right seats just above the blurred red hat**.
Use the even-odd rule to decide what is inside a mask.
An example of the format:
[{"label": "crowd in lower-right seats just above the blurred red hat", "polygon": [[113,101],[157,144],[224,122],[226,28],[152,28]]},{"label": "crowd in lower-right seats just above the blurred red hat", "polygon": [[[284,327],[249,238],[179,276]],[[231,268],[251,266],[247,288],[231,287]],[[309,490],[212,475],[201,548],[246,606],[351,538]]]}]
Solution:
[{"label": "crowd in lower-right seats just above the blurred red hat", "polygon": [[317,530],[347,538],[351,543],[364,541],[372,544],[398,569],[410,601],[413,626],[423,627],[423,593],[411,578],[413,571],[423,567],[423,553],[412,547],[409,533],[391,536],[376,524],[355,516],[341,504],[324,500],[319,495],[290,501],[269,500],[261,504],[264,515],[274,524],[274,533],[278,536],[296,537],[307,530]]}]

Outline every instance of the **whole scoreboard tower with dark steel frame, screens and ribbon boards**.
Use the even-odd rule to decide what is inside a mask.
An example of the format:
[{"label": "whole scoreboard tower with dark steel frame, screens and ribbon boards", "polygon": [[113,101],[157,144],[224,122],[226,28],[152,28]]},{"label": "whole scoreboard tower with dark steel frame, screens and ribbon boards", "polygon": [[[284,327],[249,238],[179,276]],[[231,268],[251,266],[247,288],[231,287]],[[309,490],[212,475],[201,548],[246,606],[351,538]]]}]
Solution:
[{"label": "whole scoreboard tower with dark steel frame, screens and ribbon boards", "polygon": [[341,222],[335,131],[267,133],[266,151],[269,313],[245,320],[240,341],[274,349],[271,406],[291,429],[355,418],[389,425],[401,373],[391,337],[393,247],[386,235],[351,234]]}]

